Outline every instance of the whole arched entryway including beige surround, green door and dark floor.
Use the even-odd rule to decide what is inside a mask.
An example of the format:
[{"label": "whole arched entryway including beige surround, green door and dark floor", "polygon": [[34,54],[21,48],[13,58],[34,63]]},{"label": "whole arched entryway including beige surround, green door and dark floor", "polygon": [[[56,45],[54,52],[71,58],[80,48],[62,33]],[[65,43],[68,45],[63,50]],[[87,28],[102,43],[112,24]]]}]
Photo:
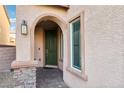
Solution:
[{"label": "whole arched entryway including beige surround, green door and dark floor", "polygon": [[[33,23],[31,31],[32,61],[38,63],[37,67],[54,68],[37,69],[39,78],[37,82],[44,83],[45,86],[42,87],[67,87],[63,81],[65,54],[67,54],[65,53],[67,48],[65,44],[66,30],[66,22],[51,13],[39,16]],[[47,81],[51,82],[50,86]],[[37,87],[40,87],[42,83]]]}]

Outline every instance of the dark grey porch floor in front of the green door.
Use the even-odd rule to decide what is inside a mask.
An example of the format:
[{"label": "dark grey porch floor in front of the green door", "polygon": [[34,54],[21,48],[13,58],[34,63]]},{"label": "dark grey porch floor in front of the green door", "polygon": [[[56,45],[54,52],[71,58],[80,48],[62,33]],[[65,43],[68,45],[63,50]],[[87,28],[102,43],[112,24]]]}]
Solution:
[{"label": "dark grey porch floor in front of the green door", "polygon": [[68,88],[63,81],[63,72],[56,68],[37,68],[37,88]]}]

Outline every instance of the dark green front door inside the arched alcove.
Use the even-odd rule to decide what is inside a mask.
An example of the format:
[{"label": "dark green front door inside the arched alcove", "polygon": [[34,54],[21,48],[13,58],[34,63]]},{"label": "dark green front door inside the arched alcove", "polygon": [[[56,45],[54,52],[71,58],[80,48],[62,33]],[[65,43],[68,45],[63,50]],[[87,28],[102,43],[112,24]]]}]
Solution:
[{"label": "dark green front door inside the arched alcove", "polygon": [[45,32],[45,65],[57,65],[57,33]]}]

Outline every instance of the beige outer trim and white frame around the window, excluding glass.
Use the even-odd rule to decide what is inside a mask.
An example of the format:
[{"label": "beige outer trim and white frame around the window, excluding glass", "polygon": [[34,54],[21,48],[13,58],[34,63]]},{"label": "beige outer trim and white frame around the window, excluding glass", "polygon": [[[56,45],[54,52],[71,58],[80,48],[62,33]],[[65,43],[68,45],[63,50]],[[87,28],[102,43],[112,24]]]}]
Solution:
[{"label": "beige outer trim and white frame around the window, excluding glass", "polygon": [[78,70],[74,67],[72,67],[72,58],[71,58],[71,49],[69,50],[69,62],[67,64],[66,70],[70,72],[72,75],[75,75],[76,77],[83,79],[84,81],[88,81],[88,76],[86,74],[85,70],[85,31],[84,31],[84,11],[79,12],[78,14],[74,15],[71,19],[68,21],[68,35],[69,35],[69,45],[71,47],[71,27],[70,23],[73,22],[76,19],[80,19],[80,64],[81,64],[81,70]]}]

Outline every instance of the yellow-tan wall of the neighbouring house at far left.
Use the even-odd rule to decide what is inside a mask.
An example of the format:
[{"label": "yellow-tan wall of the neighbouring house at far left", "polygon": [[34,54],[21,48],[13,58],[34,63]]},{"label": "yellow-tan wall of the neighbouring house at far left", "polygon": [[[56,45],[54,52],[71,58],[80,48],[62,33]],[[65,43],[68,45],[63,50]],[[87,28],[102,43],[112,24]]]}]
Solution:
[{"label": "yellow-tan wall of the neighbouring house at far left", "polygon": [[0,45],[9,45],[10,24],[5,8],[0,5]]}]

